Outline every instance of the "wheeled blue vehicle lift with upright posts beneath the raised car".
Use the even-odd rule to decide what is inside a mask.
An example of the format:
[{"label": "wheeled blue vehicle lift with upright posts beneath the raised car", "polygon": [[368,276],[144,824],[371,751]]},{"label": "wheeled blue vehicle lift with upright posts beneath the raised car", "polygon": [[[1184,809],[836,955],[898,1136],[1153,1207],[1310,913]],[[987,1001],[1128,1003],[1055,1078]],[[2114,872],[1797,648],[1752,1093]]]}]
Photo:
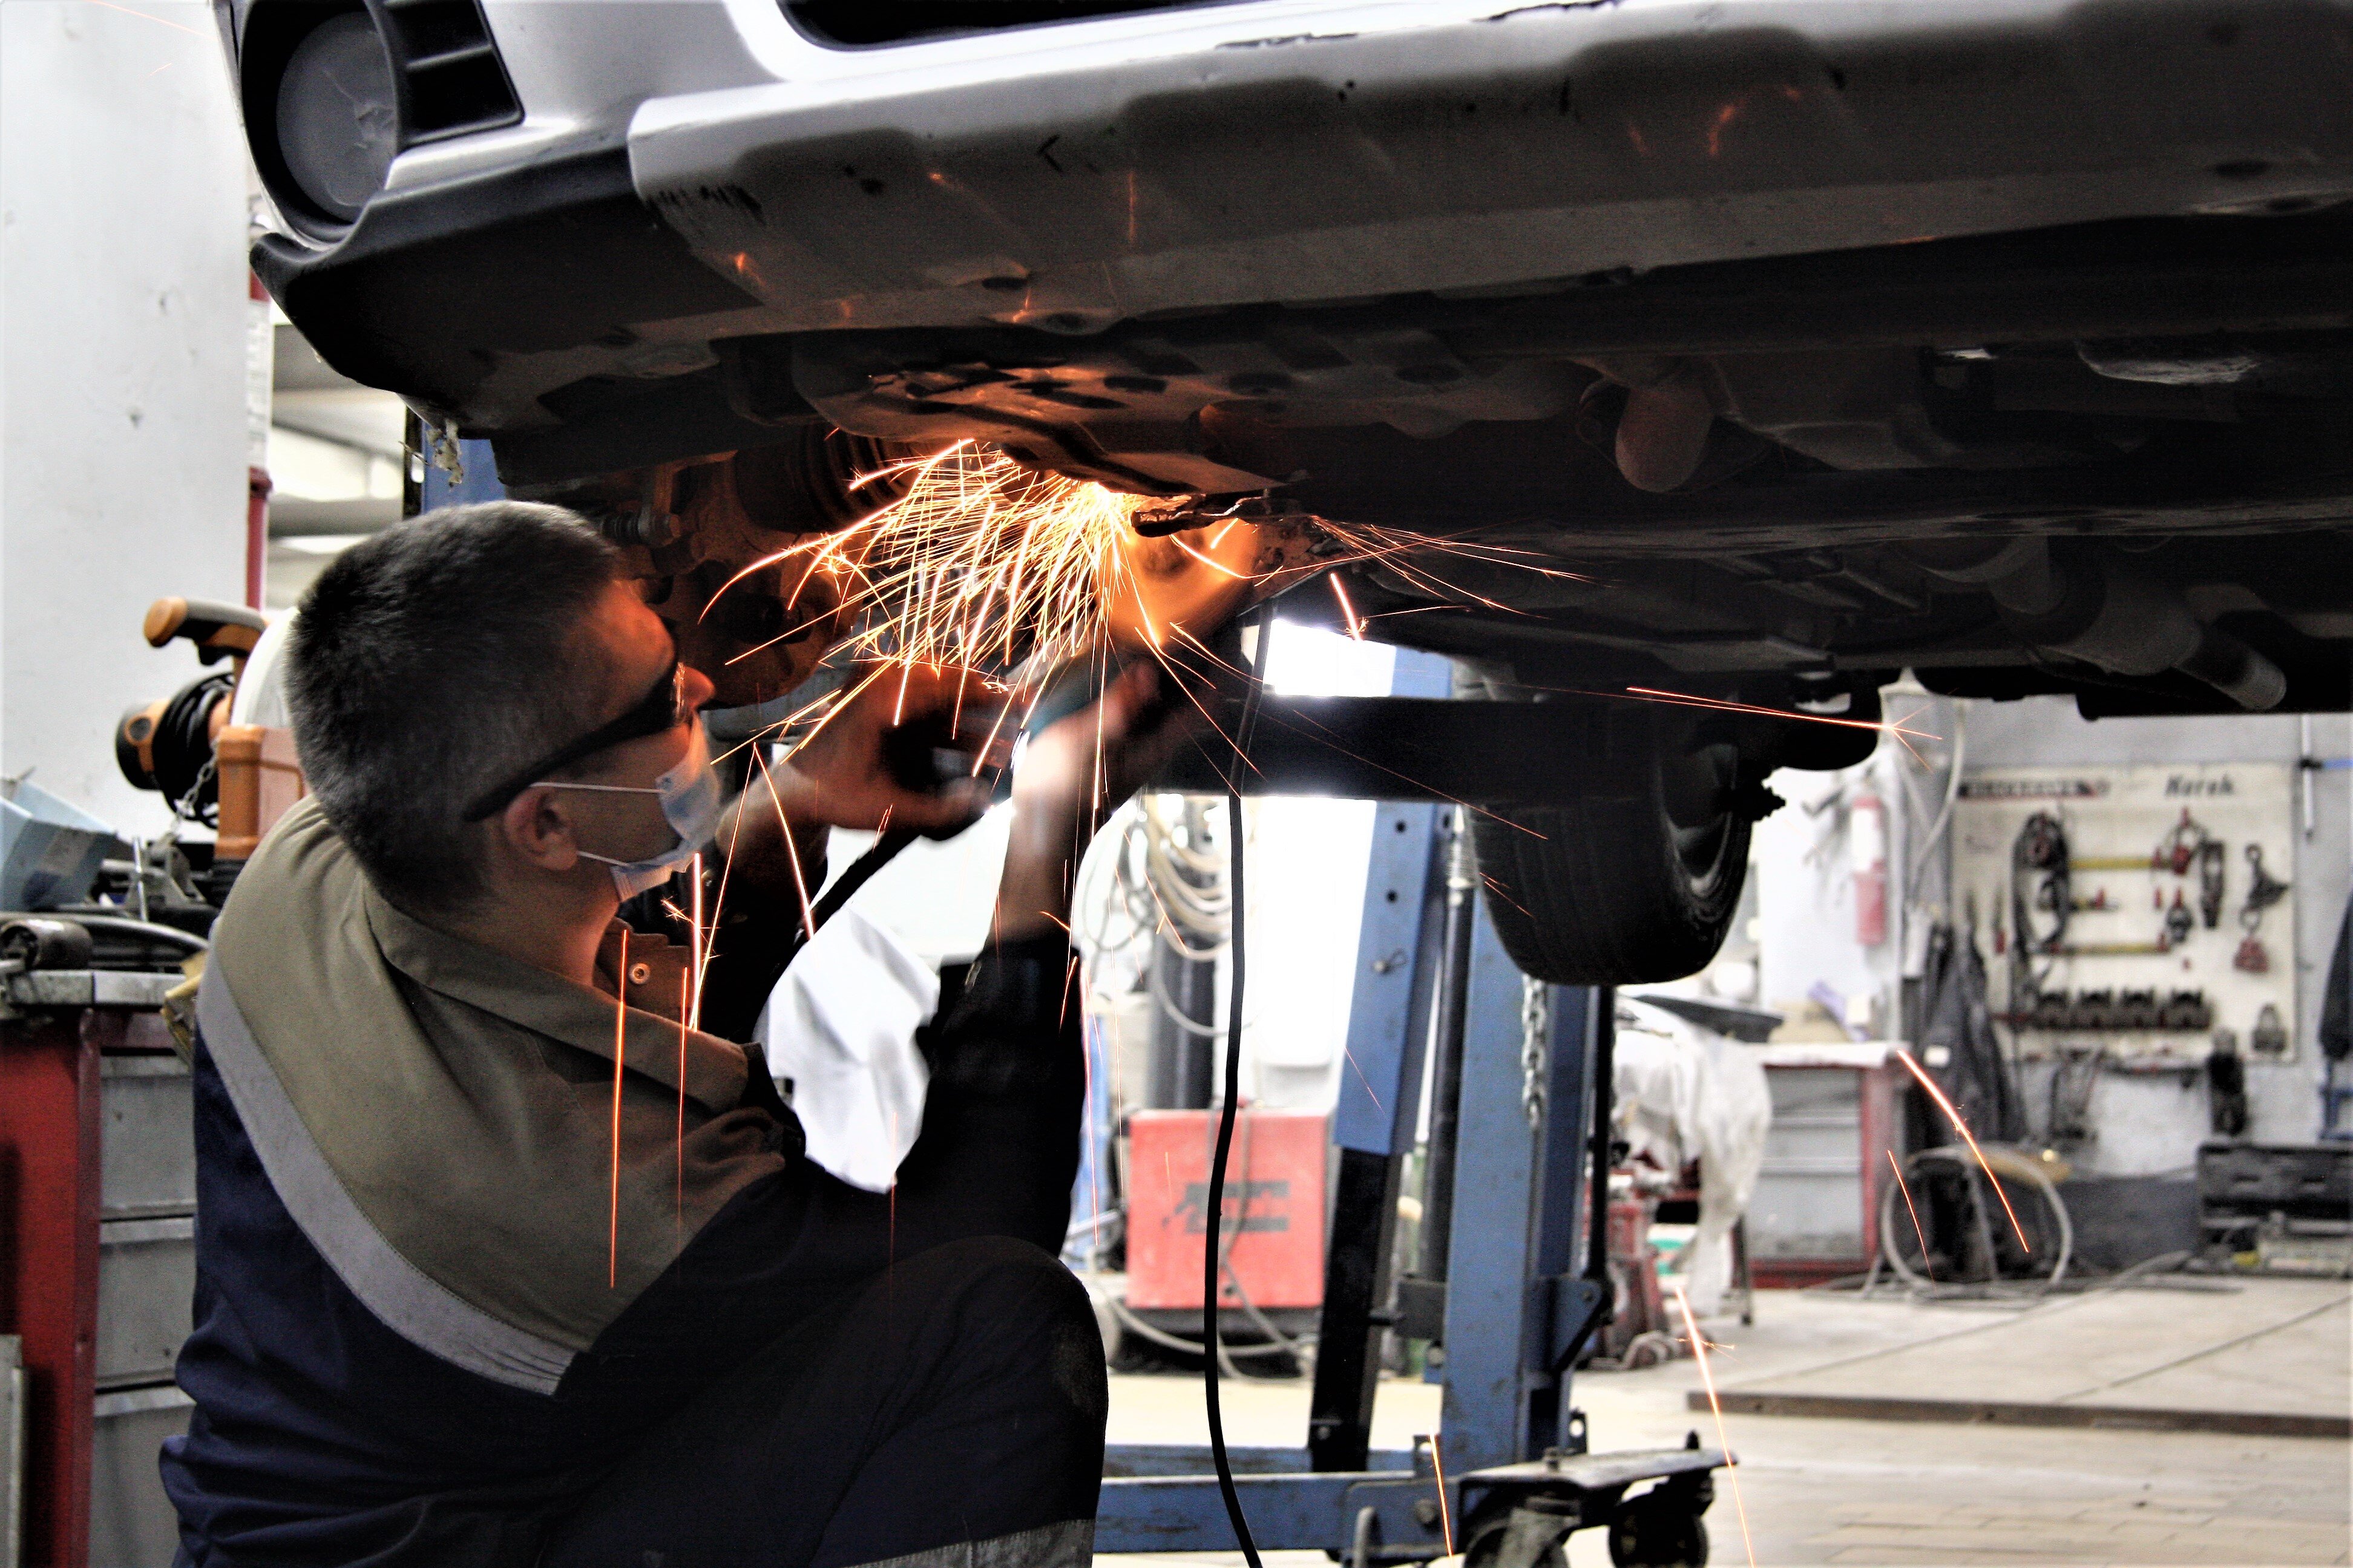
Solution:
[{"label": "wheeled blue vehicle lift with upright posts beneath the raised car", "polygon": [[[1402,691],[1431,684],[1419,665],[1438,661],[1398,663],[1400,696],[1442,696]],[[1612,994],[1520,976],[1473,879],[1454,877],[1449,898],[1445,816],[1435,802],[1377,816],[1332,1114],[1308,1434],[1304,1448],[1231,1453],[1242,1507],[1261,1549],[1320,1549],[1355,1568],[1454,1552],[1475,1568],[1553,1568],[1584,1528],[1609,1530],[1621,1568],[1704,1563],[1701,1514],[1727,1455],[1697,1434],[1685,1448],[1588,1453],[1569,1403],[1577,1354],[1609,1314]],[[1424,1239],[1435,1232],[1438,1246],[1393,1279],[1426,1058]],[[1412,1450],[1369,1446],[1388,1328],[1442,1347],[1440,1434]],[[1233,1549],[1207,1448],[1113,1446],[1104,1474],[1096,1552]]]}]

